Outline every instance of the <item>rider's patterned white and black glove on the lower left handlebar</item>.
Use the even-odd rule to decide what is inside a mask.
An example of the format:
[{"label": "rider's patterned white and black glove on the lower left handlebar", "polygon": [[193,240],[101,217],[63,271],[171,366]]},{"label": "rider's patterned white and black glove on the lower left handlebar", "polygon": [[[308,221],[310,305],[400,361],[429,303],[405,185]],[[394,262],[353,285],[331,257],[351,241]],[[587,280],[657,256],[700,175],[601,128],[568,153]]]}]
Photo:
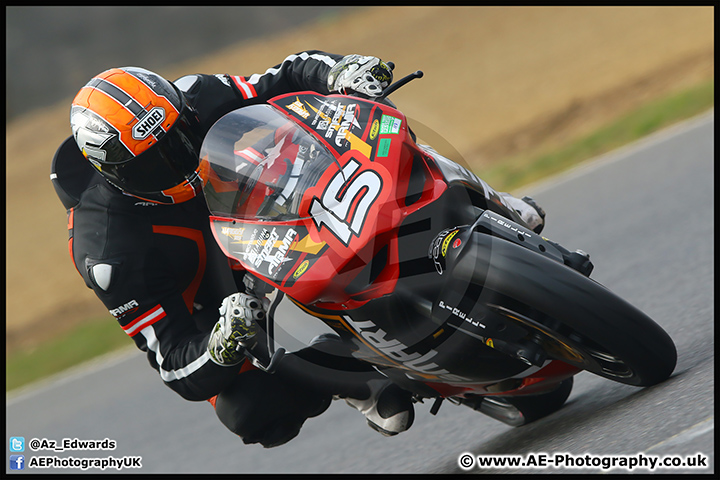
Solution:
[{"label": "rider's patterned white and black glove on the lower left handlebar", "polygon": [[265,318],[268,300],[244,293],[234,293],[223,300],[220,320],[215,324],[208,353],[210,359],[221,366],[237,365],[245,358],[244,345],[257,334],[257,320]]}]

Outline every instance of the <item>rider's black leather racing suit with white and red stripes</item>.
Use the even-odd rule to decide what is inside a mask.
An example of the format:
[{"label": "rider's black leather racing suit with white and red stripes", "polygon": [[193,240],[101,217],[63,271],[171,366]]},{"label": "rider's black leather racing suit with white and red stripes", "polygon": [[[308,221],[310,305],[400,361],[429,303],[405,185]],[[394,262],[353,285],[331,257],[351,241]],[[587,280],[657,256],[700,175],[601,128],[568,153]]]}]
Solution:
[{"label": "rider's black leather racing suit with white and red stripes", "polygon": [[[175,84],[196,108],[204,136],[216,120],[236,108],[293,91],[329,93],[327,75],[340,58],[307,51],[287,57],[263,74],[189,75]],[[147,353],[168,387],[185,399],[212,399],[214,405],[213,397],[231,384],[236,396],[269,392],[259,400],[265,410],[245,406],[238,411],[235,404],[247,405],[247,399],[219,402],[225,410],[218,416],[246,443],[283,443],[297,434],[307,416],[327,407],[326,395],[318,397],[307,388],[295,391],[260,370],[246,372],[247,360],[235,367],[210,360],[206,347],[218,307],[223,298],[243,290],[242,272],[233,272],[213,238],[202,196],[159,205],[125,195],[90,167],[72,137],[55,154],[52,178],[68,211],[75,267],[125,333]],[[238,375],[241,369],[246,373]],[[281,397],[289,404],[287,412],[277,404]],[[228,405],[232,411],[227,411]],[[263,414],[275,423],[247,427],[237,418],[258,419]]]}]

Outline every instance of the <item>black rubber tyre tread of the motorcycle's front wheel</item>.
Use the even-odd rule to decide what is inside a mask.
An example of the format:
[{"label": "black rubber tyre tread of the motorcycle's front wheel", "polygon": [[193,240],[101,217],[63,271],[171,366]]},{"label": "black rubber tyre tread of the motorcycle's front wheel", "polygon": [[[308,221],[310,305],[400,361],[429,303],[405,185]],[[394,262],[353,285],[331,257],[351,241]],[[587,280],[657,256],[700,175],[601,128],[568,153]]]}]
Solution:
[{"label": "black rubber tyre tread of the motorcycle's front wheel", "polygon": [[637,386],[654,385],[672,374],[677,352],[670,336],[601,284],[500,238],[476,232],[469,243],[455,263],[455,278],[483,285],[569,326],[634,372],[627,378],[593,373]]}]

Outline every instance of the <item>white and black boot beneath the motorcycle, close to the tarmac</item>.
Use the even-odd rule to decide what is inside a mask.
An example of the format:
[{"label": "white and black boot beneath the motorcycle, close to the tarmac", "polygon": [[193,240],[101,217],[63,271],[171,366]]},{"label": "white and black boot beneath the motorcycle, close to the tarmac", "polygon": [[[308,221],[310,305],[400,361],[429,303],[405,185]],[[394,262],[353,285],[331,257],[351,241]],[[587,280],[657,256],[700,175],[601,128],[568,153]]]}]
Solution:
[{"label": "white and black boot beneath the motorcycle, close to the tarmac", "polygon": [[410,392],[390,380],[370,380],[367,386],[367,396],[345,398],[345,401],[365,415],[370,428],[390,437],[412,426],[415,410]]}]

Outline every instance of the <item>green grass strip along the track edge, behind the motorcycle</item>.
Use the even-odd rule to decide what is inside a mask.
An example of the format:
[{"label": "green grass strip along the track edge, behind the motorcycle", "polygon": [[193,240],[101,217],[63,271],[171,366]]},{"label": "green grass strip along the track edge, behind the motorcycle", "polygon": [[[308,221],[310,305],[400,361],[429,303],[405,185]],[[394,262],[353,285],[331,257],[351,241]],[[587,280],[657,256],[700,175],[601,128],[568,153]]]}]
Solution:
[{"label": "green grass strip along the track edge, behind the motorcycle", "polygon": [[[483,169],[481,177],[499,191],[511,191],[698,115],[711,108],[714,101],[713,79],[648,103],[563,147],[503,159],[497,162],[497,166]],[[129,344],[128,337],[110,318],[80,325],[32,350],[9,355],[5,367],[6,391]]]}]

